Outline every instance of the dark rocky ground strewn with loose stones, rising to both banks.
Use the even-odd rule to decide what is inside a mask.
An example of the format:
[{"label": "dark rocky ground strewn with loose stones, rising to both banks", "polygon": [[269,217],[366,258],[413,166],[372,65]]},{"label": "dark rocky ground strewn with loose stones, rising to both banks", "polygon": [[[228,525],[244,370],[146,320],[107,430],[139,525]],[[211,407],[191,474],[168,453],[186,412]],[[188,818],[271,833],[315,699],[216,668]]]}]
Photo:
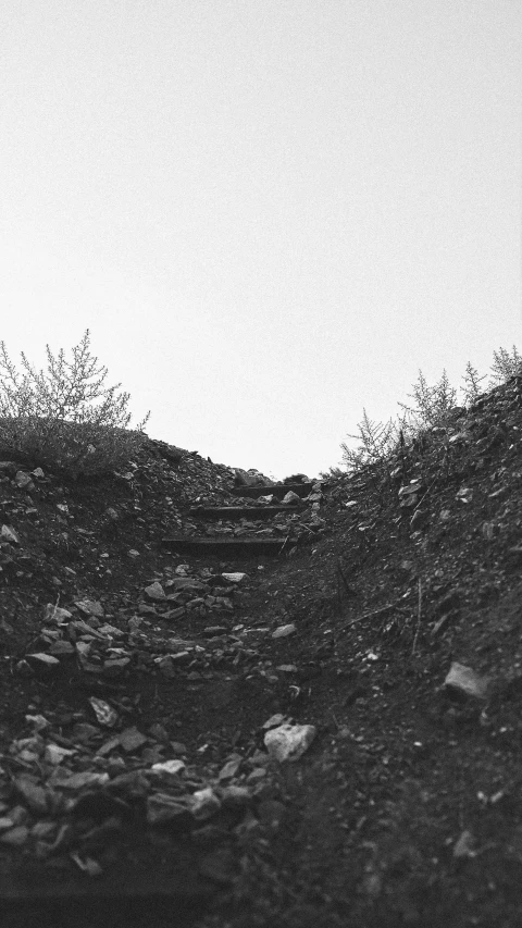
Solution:
[{"label": "dark rocky ground strewn with loose stones, rising to both banks", "polygon": [[283,505],[0,462],[2,925],[519,925],[521,407]]}]

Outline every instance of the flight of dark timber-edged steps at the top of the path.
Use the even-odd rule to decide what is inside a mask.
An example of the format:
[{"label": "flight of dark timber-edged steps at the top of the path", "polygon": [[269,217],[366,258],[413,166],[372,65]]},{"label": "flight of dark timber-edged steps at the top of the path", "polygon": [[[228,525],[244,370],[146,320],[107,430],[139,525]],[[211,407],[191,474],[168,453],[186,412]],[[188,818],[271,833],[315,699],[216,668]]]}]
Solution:
[{"label": "flight of dark timber-edged steps at the top of the path", "polygon": [[[227,522],[238,523],[238,530],[223,530],[223,534],[219,533],[210,536],[204,535],[175,535],[163,539],[163,545],[171,552],[178,554],[215,554],[223,555],[226,559],[229,555],[256,557],[257,555],[273,555],[278,556],[284,552],[295,548],[301,541],[302,536],[291,534],[291,523],[282,524],[278,528],[278,535],[273,537],[268,534],[261,534],[262,529],[256,529],[253,523],[263,523],[272,520],[274,517],[284,515],[295,515],[302,512],[307,508],[304,502],[297,499],[290,503],[272,503],[268,502],[270,497],[282,500],[288,493],[293,493],[299,500],[303,500],[313,492],[314,484],[312,483],[296,483],[296,484],[260,484],[257,486],[237,486],[231,493],[233,496],[241,497],[243,499],[259,499],[265,497],[265,502],[259,505],[247,504],[229,506],[192,506],[189,509],[189,516],[196,522],[213,522],[226,520]],[[268,497],[268,498],[266,498]],[[247,525],[241,525],[241,520],[247,520]],[[224,536],[225,535],[225,536]]]}]

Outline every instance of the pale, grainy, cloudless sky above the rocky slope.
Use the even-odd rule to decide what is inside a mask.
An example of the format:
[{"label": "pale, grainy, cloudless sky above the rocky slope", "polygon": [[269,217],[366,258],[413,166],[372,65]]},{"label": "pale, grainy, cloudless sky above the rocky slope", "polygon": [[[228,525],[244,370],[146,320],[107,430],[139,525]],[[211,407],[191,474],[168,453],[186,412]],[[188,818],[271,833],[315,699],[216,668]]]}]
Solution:
[{"label": "pale, grainy, cloudless sky above the rocky slope", "polygon": [[283,479],[522,349],[519,0],[4,0],[0,339]]}]

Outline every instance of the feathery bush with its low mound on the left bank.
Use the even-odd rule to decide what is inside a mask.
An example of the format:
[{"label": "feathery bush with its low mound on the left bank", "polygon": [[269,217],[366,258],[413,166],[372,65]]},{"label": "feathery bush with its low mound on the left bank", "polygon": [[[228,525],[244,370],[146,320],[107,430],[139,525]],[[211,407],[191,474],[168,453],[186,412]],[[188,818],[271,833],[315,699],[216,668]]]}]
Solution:
[{"label": "feathery bush with its low mound on the left bank", "polygon": [[97,368],[89,338],[87,329],[72,361],[47,345],[47,374],[23,351],[18,372],[0,342],[0,456],[77,479],[111,472],[138,450],[150,412],[128,428],[130,395],[116,394],[121,384],[103,386],[108,370]]}]

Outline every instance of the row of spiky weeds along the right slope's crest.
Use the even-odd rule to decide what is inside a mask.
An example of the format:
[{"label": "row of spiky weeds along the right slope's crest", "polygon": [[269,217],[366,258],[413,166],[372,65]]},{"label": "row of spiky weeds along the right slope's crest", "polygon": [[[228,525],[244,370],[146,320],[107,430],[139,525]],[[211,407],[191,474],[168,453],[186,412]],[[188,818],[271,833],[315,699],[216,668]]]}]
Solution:
[{"label": "row of spiky weeds along the right slope's crest", "polygon": [[[357,473],[369,466],[377,465],[387,469],[387,461],[396,455],[399,449],[411,444],[423,444],[428,434],[437,430],[444,431],[456,416],[473,406],[484,392],[506,383],[511,376],[522,374],[522,356],[513,345],[512,352],[506,348],[499,348],[493,352],[492,364],[493,376],[485,391],[481,389],[482,381],[486,375],[478,375],[478,371],[468,361],[463,375],[464,386],[459,387],[463,394],[463,406],[457,405],[457,389],[451,386],[446,370],[440,379],[430,385],[419,370],[419,379],[413,384],[413,392],[408,394],[413,400],[412,406],[399,403],[401,412],[395,420],[387,422],[374,422],[370,419],[366,410],[357,423],[358,432],[348,433],[347,438],[358,441],[356,447],[350,447],[347,442],[340,445],[343,459],[340,466],[344,472]],[[338,475],[339,468],[331,468],[331,475]]]}]

